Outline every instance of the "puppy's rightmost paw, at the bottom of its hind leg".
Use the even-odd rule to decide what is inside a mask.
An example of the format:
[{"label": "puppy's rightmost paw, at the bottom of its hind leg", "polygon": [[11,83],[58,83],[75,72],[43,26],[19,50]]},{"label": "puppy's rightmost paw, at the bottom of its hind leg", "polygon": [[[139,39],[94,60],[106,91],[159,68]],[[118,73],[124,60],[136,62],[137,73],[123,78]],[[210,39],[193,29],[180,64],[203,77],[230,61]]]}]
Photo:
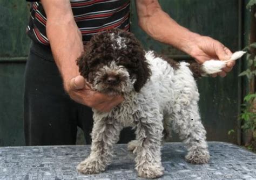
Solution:
[{"label": "puppy's rightmost paw, at the bottom of its hind leg", "polygon": [[194,149],[187,153],[185,160],[192,164],[206,164],[210,160],[207,149]]}]

